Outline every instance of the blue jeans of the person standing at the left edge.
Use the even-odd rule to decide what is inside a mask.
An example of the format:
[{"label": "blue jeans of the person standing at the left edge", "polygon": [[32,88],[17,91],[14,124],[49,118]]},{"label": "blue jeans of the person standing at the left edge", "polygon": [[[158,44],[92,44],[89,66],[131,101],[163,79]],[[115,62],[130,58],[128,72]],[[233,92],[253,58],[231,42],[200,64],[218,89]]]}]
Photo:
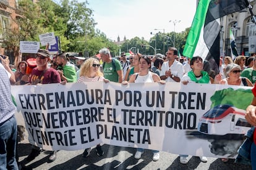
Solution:
[{"label": "blue jeans of the person standing at the left edge", "polygon": [[0,124],[0,169],[19,169],[15,159],[17,123],[12,116]]}]

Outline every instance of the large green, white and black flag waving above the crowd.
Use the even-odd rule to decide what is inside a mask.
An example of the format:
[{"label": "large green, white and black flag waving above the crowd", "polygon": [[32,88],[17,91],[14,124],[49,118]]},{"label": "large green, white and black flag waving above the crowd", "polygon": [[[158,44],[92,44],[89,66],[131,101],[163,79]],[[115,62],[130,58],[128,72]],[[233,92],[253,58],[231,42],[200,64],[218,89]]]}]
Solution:
[{"label": "large green, white and black flag waving above the crowd", "polygon": [[211,70],[218,72],[220,64],[220,18],[247,8],[241,0],[200,0],[187,36],[183,55],[200,56],[208,61]]}]

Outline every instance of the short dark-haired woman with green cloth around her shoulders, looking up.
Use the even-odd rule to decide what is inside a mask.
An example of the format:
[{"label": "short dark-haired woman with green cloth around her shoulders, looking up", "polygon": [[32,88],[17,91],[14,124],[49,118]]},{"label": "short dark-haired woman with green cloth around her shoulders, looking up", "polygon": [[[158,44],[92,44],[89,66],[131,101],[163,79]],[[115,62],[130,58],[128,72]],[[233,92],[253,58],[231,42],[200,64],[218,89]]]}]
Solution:
[{"label": "short dark-haired woman with green cloth around her shoulders, looking up", "polygon": [[[203,71],[203,59],[202,57],[193,57],[190,60],[190,67],[192,71],[189,71],[181,78],[181,83],[188,84],[190,82],[193,83],[211,83],[210,76],[208,75],[207,71]],[[179,155],[179,161],[182,164],[187,164],[188,160],[187,157],[189,155]],[[207,157],[200,156],[200,160],[203,163],[207,162]]]}]

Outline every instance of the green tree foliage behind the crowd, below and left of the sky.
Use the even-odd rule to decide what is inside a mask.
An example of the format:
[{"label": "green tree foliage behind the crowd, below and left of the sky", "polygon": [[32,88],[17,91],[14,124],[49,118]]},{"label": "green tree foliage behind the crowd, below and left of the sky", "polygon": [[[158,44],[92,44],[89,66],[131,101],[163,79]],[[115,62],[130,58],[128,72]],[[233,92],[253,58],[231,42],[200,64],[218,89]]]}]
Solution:
[{"label": "green tree foliage behind the crowd, below and left of the sky", "polygon": [[[6,30],[4,34],[4,47],[19,52],[20,41],[39,41],[39,35],[54,32],[61,41],[61,50],[64,52],[84,52],[89,56],[98,54],[103,47],[108,47],[114,55],[119,52],[140,52],[142,54],[153,55],[156,49],[158,53],[164,54],[172,42],[163,36],[154,36],[155,41],[147,42],[143,38],[135,37],[127,39],[126,42],[117,46],[106,37],[105,33],[95,30],[96,22],[93,19],[93,10],[88,7],[88,1],[78,2],[77,0],[61,0],[56,4],[52,0],[19,1],[20,17],[14,18],[13,22],[19,28]],[[182,33],[176,33],[176,47],[180,51],[184,48],[189,29]],[[173,39],[174,33],[166,33]],[[163,50],[163,39],[165,41]],[[156,43],[156,44],[155,44]],[[142,46],[144,45],[144,46]],[[153,49],[151,47],[153,47]]]}]

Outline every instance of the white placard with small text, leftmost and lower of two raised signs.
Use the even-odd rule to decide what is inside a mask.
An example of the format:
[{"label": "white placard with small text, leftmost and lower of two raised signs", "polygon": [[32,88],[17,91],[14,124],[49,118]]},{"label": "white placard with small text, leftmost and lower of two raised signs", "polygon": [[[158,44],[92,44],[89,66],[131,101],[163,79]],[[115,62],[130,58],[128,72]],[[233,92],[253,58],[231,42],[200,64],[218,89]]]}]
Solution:
[{"label": "white placard with small text, leftmost and lower of two raised signs", "polygon": [[38,41],[20,41],[20,52],[36,53],[40,47]]}]

